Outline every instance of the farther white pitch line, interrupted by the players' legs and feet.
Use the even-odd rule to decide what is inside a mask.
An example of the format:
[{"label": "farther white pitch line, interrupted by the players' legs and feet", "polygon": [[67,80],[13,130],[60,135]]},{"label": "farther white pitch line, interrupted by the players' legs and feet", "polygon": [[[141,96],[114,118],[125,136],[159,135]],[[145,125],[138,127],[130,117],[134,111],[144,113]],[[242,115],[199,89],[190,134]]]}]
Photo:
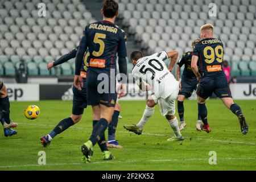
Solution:
[{"label": "farther white pitch line, interrupted by the players' legs and feet", "polygon": [[[32,126],[48,126],[48,127],[55,127],[56,125],[43,125],[38,123],[20,123],[22,125],[32,125]],[[89,127],[76,127],[72,126],[71,129],[77,129],[77,130],[92,130]],[[117,133],[129,133],[132,134],[130,131],[116,131]],[[162,136],[162,137],[168,137],[170,134],[154,134],[154,133],[142,133],[142,135],[150,135],[150,136]],[[189,138],[189,137],[184,137]],[[205,138],[192,138],[192,140],[207,140],[211,142],[220,142],[220,143],[233,143],[233,144],[248,144],[255,146],[256,143],[250,143],[250,142],[240,142],[240,141],[231,141],[231,140],[219,140],[219,139],[205,139]]]}]

